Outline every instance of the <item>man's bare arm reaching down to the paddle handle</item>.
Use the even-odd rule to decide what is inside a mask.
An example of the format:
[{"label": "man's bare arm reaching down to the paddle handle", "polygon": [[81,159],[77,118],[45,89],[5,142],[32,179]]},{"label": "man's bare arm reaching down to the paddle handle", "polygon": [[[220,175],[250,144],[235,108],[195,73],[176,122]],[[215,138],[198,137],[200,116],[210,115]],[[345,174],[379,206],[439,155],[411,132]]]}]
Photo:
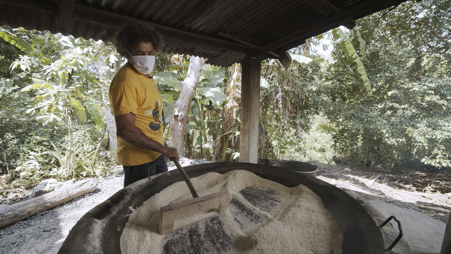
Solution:
[{"label": "man's bare arm reaching down to the paddle handle", "polygon": [[144,132],[135,126],[135,121],[136,116],[133,113],[115,116],[116,135],[132,146],[159,152],[163,156],[170,158],[170,160],[179,160],[177,149],[161,145],[157,141],[148,138]]}]

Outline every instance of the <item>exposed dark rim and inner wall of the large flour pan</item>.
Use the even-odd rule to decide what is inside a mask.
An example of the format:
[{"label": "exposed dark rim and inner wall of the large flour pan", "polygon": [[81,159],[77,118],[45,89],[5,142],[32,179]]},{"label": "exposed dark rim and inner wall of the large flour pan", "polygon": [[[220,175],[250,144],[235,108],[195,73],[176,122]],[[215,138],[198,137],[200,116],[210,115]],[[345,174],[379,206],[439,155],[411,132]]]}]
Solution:
[{"label": "exposed dark rim and inner wall of the large flour pan", "polygon": [[[185,167],[190,178],[208,172],[225,174],[237,169],[248,170],[286,187],[304,184],[310,188],[340,225],[343,254],[385,253],[379,252],[385,247],[384,240],[373,217],[356,199],[329,183],[290,169],[274,170],[274,166],[252,163],[218,162]],[[120,237],[129,218],[124,218],[129,207],[140,207],[148,198],[179,181],[183,181],[179,172],[172,170],[150,181],[142,179],[123,188],[92,208],[75,224],[58,254],[121,254]]]}]

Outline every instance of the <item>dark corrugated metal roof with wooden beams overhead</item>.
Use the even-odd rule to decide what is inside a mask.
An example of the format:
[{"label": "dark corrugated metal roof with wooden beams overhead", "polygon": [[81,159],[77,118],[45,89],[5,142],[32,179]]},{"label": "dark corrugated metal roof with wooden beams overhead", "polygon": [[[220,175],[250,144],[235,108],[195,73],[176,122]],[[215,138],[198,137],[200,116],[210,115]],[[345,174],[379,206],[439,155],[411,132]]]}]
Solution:
[{"label": "dark corrugated metal roof with wooden beams overhead", "polygon": [[[341,20],[359,19],[403,1],[329,0],[343,12],[334,19],[308,5],[308,1],[299,0],[0,0],[0,24],[109,40],[121,21],[139,19],[163,26],[167,52],[202,56],[213,65],[230,66],[245,57],[270,55],[218,33],[258,47],[281,40],[271,50],[283,52],[339,26]],[[317,2],[327,4],[326,0]],[[73,3],[69,27],[59,27],[61,6],[71,7]],[[69,17],[61,15],[60,19]],[[306,31],[300,33],[302,28]],[[204,37],[185,40],[187,33],[183,32]],[[216,47],[215,42],[222,46]]]}]

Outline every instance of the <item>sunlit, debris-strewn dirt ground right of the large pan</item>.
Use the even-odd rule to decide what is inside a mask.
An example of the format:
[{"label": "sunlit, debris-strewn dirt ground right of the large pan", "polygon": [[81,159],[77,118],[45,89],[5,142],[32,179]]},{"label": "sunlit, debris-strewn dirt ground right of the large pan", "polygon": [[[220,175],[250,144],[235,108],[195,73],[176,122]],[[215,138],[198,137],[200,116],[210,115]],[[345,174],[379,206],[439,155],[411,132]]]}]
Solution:
[{"label": "sunlit, debris-strewn dirt ground right of the large pan", "polygon": [[[448,223],[451,212],[451,174],[428,170],[391,170],[384,167],[318,166],[318,175],[362,188],[389,204],[414,209]],[[333,182],[333,181],[332,181]]]}]

